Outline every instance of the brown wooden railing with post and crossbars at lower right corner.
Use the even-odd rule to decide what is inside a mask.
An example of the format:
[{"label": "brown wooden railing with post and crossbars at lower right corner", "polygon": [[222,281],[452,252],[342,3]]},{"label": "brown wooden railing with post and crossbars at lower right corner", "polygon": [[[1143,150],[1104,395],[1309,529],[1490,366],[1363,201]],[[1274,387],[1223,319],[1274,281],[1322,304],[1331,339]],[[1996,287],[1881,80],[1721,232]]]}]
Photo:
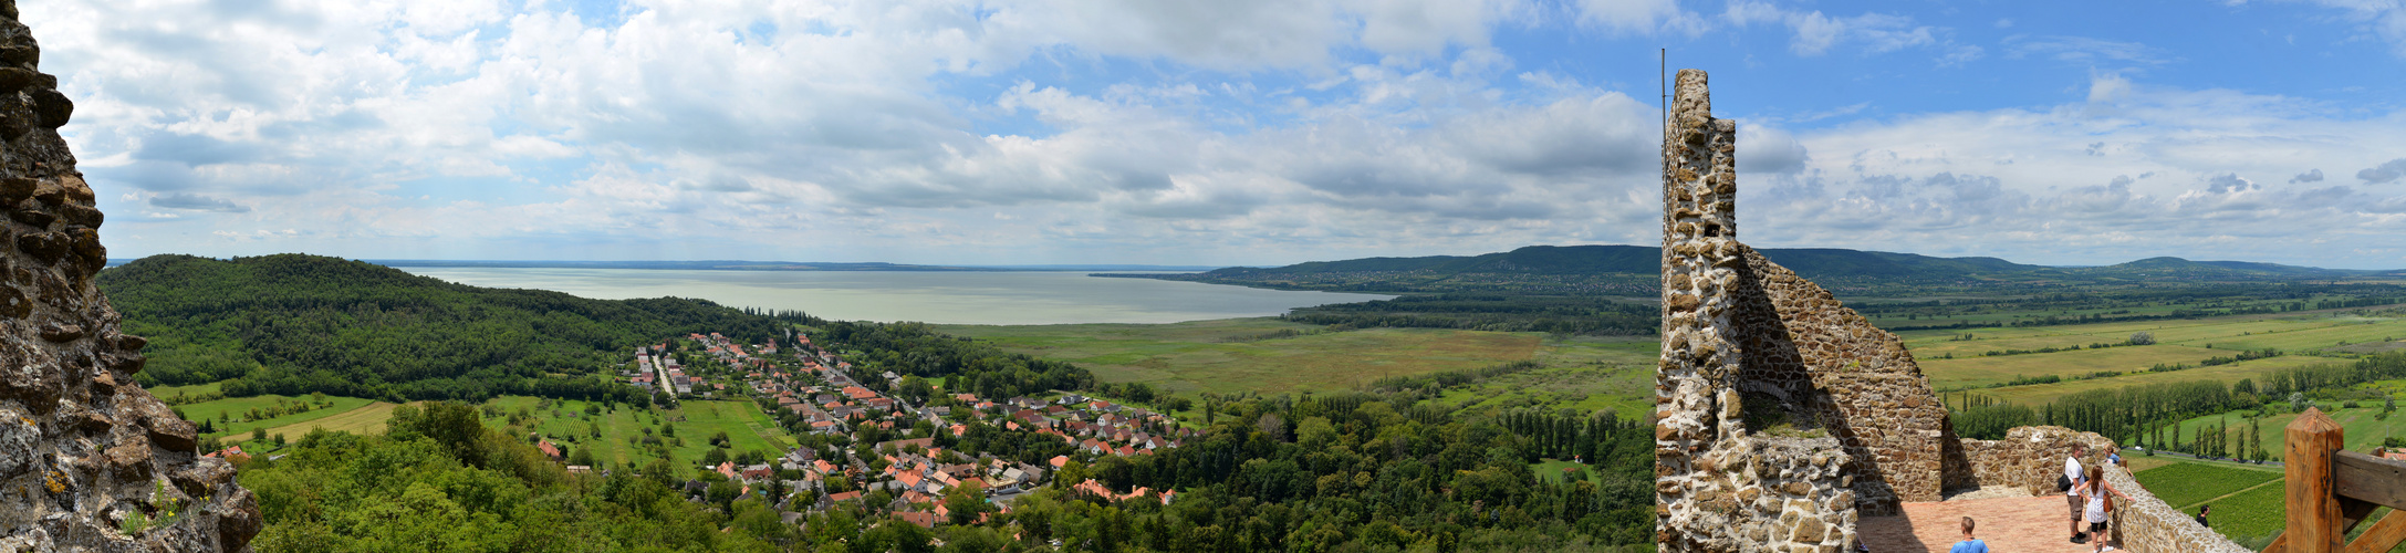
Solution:
[{"label": "brown wooden railing with post and crossbars at lower right corner", "polygon": [[[2348,452],[2346,430],[2322,409],[2288,423],[2288,529],[2264,553],[2380,553],[2406,541],[2406,462]],[[2392,515],[2346,541],[2372,510]]]}]

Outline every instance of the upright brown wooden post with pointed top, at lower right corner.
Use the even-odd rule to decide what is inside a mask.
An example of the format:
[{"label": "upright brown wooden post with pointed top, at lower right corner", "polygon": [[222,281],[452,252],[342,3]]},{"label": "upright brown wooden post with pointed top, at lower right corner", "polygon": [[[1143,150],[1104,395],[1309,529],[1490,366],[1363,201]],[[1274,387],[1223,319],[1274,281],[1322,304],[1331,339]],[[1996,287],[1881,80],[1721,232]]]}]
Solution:
[{"label": "upright brown wooden post with pointed top, at lower right corner", "polygon": [[2288,423],[2288,531],[2281,541],[2291,553],[2334,553],[2346,539],[2339,515],[2339,493],[2331,481],[2331,454],[2339,452],[2343,428],[2322,409],[2305,409]]}]

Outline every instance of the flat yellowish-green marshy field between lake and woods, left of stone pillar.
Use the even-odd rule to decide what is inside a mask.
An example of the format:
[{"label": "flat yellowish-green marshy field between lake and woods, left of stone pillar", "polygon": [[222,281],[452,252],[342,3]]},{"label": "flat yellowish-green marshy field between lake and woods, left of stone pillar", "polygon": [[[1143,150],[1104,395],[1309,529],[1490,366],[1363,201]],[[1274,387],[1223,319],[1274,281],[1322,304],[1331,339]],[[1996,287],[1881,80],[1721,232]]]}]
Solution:
[{"label": "flat yellowish-green marshy field between lake and woods, left of stone pillar", "polygon": [[[936,332],[994,341],[1008,351],[1078,363],[1104,382],[1148,382],[1169,392],[1352,390],[1393,375],[1468,370],[1540,356],[1622,356],[1617,349],[1566,346],[1545,353],[1537,332],[1352,329],[1232,341],[1314,325],[1198,320],[1174,325],[941,325]],[[1651,339],[1646,339],[1651,341]],[[1593,353],[1581,353],[1593,349]],[[1653,351],[1643,356],[1653,368]]]}]

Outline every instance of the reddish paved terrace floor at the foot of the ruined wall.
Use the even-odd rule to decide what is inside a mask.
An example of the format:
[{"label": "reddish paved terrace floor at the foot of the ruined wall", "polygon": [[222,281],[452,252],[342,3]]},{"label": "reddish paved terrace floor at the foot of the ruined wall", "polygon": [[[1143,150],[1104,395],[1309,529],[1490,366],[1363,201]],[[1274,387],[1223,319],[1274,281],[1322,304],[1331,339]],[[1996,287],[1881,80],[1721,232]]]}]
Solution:
[{"label": "reddish paved terrace floor at the foot of the ruined wall", "polygon": [[1906,503],[1903,507],[1903,517],[1857,519],[1855,534],[1862,546],[1872,553],[1946,553],[1963,539],[1958,519],[1973,517],[1978,522],[1973,536],[1987,541],[1987,551],[2088,553],[2093,548],[2067,541],[2072,515],[2064,512],[2062,495]]}]

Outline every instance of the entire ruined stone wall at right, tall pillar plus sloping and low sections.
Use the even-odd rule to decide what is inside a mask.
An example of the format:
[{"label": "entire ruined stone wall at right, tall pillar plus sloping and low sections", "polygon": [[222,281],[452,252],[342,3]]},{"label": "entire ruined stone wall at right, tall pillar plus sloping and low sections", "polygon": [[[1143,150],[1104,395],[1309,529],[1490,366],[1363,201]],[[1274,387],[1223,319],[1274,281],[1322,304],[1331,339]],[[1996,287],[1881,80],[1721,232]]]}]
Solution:
[{"label": "entire ruined stone wall at right, tall pillar plus sloping and low sections", "polygon": [[[1663,130],[1663,358],[1655,370],[1655,543],[1663,551],[1850,551],[1860,517],[1946,490],[2052,495],[2074,445],[2057,426],[1961,440],[1896,334],[1737,240],[1737,125],[1679,70]],[[2146,495],[2132,551],[2230,551]]]}]

